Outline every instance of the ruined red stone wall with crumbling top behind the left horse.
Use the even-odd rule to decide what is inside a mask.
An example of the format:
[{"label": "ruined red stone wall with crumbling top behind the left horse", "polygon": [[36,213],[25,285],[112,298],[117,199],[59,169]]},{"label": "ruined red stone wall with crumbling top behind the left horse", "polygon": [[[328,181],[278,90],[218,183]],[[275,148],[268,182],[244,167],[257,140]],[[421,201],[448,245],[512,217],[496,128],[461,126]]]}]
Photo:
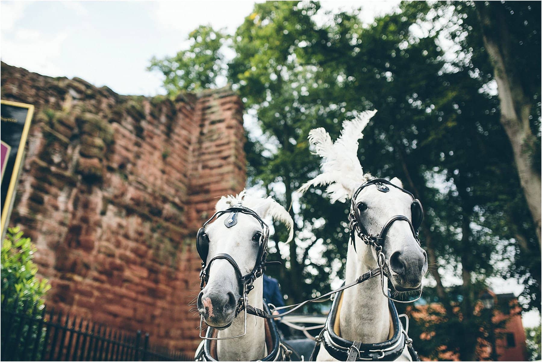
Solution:
[{"label": "ruined red stone wall with crumbling top behind the left horse", "polygon": [[9,225],[36,244],[48,306],[193,352],[195,234],[246,181],[231,90],[120,96],[1,64],[4,100],[35,106]]}]

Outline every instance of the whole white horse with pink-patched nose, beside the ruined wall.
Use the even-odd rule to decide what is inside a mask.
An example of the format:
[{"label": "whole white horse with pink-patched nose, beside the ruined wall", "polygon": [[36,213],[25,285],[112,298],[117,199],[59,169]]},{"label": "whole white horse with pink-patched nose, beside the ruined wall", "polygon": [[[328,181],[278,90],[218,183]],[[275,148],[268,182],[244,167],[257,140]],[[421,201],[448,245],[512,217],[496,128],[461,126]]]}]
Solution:
[{"label": "whole white horse with pink-patched nose, beside the ruined wall", "polygon": [[[202,342],[196,359],[261,360],[278,346],[276,341],[270,341],[269,333],[273,333],[274,326],[266,325],[273,322],[245,313],[247,302],[255,308],[267,308],[263,305],[259,269],[265,259],[262,253],[266,252],[268,236],[262,219],[271,217],[284,223],[290,232],[288,242],[293,237],[293,220],[272,198],[254,198],[244,190],[237,196],[222,196],[216,211],[214,222],[211,218],[198,232],[198,252],[207,265],[204,270],[207,285],[198,295],[197,308],[205,323],[212,327],[206,337],[212,340]],[[247,275],[248,279],[243,280]],[[248,300],[243,300],[247,293]],[[277,354],[272,360],[280,358]]]}]

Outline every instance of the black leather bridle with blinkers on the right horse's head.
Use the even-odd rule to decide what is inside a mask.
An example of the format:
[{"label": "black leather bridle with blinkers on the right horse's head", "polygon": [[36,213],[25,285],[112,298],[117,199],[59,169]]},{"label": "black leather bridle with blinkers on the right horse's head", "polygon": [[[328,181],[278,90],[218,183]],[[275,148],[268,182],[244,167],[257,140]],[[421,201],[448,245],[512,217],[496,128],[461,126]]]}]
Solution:
[{"label": "black leather bridle with blinkers on the right horse's head", "polygon": [[[370,186],[370,185],[376,185],[377,189],[380,192],[384,192],[384,193],[390,190],[389,186],[392,186],[401,190],[402,192],[406,194],[409,194],[410,197],[412,198],[412,204],[411,204],[412,220],[407,218],[405,215],[395,215],[395,216],[392,216],[388,221],[386,221],[386,223],[382,227],[382,230],[380,230],[378,234],[376,235],[369,234],[366,228],[363,226],[363,224],[360,221],[361,218],[360,218],[360,213],[359,213],[359,204],[356,205],[356,199],[359,193],[365,187]],[[410,226],[410,231],[412,232],[412,235],[414,236],[414,239],[416,240],[418,245],[420,245],[420,237],[418,236],[418,228],[420,227],[423,220],[423,207],[420,200],[416,199],[415,196],[412,195],[412,193],[408,192],[407,190],[399,186],[393,185],[393,183],[391,183],[388,180],[371,179],[363,183],[363,185],[358,187],[356,192],[354,192],[352,196],[352,202],[350,205],[350,213],[348,215],[348,218],[350,221],[350,242],[354,246],[354,251],[357,252],[356,250],[356,235],[357,235],[360,239],[362,239],[362,241],[366,245],[372,246],[373,248],[375,248],[375,251],[377,252],[377,265],[382,271],[382,274],[380,276],[380,284],[382,285],[382,293],[384,294],[384,296],[397,303],[411,303],[420,299],[420,297],[422,296],[421,285],[420,285],[420,288],[418,289],[420,290],[420,295],[418,295],[418,297],[415,300],[400,301],[388,296],[388,293],[386,293],[386,291],[384,290],[384,275],[388,277],[389,275],[387,275],[388,273],[386,272],[388,271],[388,268],[386,268],[386,258],[384,256],[384,253],[382,252],[386,234],[388,233],[388,230],[390,229],[391,225],[395,223],[395,221],[398,221],[398,220],[406,221],[408,223],[408,225]]]}]

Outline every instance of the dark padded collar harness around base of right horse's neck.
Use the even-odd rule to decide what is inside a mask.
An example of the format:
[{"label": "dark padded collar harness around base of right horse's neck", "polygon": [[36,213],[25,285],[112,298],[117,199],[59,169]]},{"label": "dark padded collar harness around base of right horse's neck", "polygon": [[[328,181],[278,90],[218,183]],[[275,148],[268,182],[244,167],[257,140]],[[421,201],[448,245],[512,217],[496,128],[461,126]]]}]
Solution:
[{"label": "dark padded collar harness around base of right horse's neck", "polygon": [[[392,337],[384,342],[366,344],[360,341],[350,341],[341,338],[335,333],[333,326],[335,320],[339,317],[338,308],[343,291],[339,291],[333,300],[330,314],[327,317],[326,324],[320,335],[316,338],[316,345],[311,354],[311,361],[320,351],[320,346],[323,345],[327,353],[334,359],[339,361],[393,361],[399,358],[404,353],[405,347],[408,349],[410,358],[413,361],[419,361],[418,354],[412,347],[412,340],[408,336],[408,318],[406,319],[406,330],[403,328],[397,309],[393,301],[389,301],[389,309],[393,326]],[[406,315],[401,315],[406,317]]]}]

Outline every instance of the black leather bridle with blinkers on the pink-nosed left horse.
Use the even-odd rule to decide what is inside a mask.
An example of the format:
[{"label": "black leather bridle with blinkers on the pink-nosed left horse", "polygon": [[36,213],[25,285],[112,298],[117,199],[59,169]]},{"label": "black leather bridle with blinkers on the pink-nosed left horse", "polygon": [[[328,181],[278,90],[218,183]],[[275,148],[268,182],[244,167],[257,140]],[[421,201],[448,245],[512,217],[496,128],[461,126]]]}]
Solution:
[{"label": "black leather bridle with blinkers on the pink-nosed left horse", "polygon": [[[256,263],[254,264],[254,268],[246,275],[243,275],[241,272],[241,269],[239,268],[239,265],[235,262],[235,259],[231,257],[231,255],[227,253],[218,253],[214,255],[209,262],[207,262],[208,259],[208,253],[209,253],[209,237],[207,233],[205,232],[205,227],[211,223],[212,220],[220,217],[223,214],[231,213],[231,215],[224,220],[224,225],[228,228],[233,227],[237,224],[238,220],[238,213],[247,214],[252,217],[254,217],[258,222],[260,223],[263,233],[260,236],[260,242],[258,246],[258,253],[256,256]],[[203,325],[203,315],[200,316],[199,320],[199,336],[203,339],[211,339],[211,340],[223,340],[223,339],[233,339],[238,338],[247,333],[247,302],[248,302],[248,293],[252,289],[254,289],[254,281],[256,278],[260,277],[263,274],[263,269],[266,265],[275,264],[280,262],[266,262],[267,257],[267,241],[269,239],[269,227],[266,223],[260,218],[260,216],[252,209],[249,209],[248,207],[244,207],[240,204],[231,206],[225,210],[221,210],[216,212],[212,217],[205,221],[203,226],[199,229],[197,238],[196,238],[196,249],[198,251],[199,257],[202,259],[202,268],[201,272],[199,272],[199,279],[201,280],[201,283],[199,284],[200,290],[203,290],[205,287],[205,284],[209,281],[209,271],[211,269],[211,264],[217,259],[224,259],[228,263],[230,263],[237,275],[237,279],[240,284],[242,284],[242,296],[237,301],[237,306],[235,308],[235,316],[240,314],[244,310],[244,333],[236,336],[231,336],[227,338],[210,338],[207,336],[203,336],[202,333],[202,325]]]}]

